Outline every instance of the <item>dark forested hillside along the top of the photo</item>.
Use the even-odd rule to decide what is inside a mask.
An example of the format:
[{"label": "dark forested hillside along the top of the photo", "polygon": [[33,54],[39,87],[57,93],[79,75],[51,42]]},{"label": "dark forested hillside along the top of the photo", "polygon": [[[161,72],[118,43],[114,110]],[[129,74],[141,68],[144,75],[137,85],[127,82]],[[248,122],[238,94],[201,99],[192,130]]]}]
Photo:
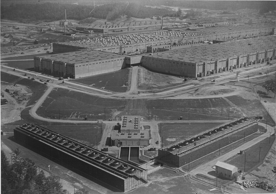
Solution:
[{"label": "dark forested hillside along the top of the photo", "polygon": [[[1,19],[10,19],[19,22],[30,21],[55,21],[65,18],[65,9],[67,19],[82,20],[88,17],[97,19],[115,20],[121,14],[129,17],[146,18],[156,15],[180,16],[181,12],[168,10],[165,8],[145,7],[139,3],[112,3],[100,6],[85,6],[75,4],[59,4],[59,3],[37,3],[37,4],[16,4],[1,5]],[[94,9],[94,10],[93,10]],[[93,11],[92,11],[93,10]],[[92,12],[91,12],[92,11]],[[91,13],[90,13],[91,12]]]}]

